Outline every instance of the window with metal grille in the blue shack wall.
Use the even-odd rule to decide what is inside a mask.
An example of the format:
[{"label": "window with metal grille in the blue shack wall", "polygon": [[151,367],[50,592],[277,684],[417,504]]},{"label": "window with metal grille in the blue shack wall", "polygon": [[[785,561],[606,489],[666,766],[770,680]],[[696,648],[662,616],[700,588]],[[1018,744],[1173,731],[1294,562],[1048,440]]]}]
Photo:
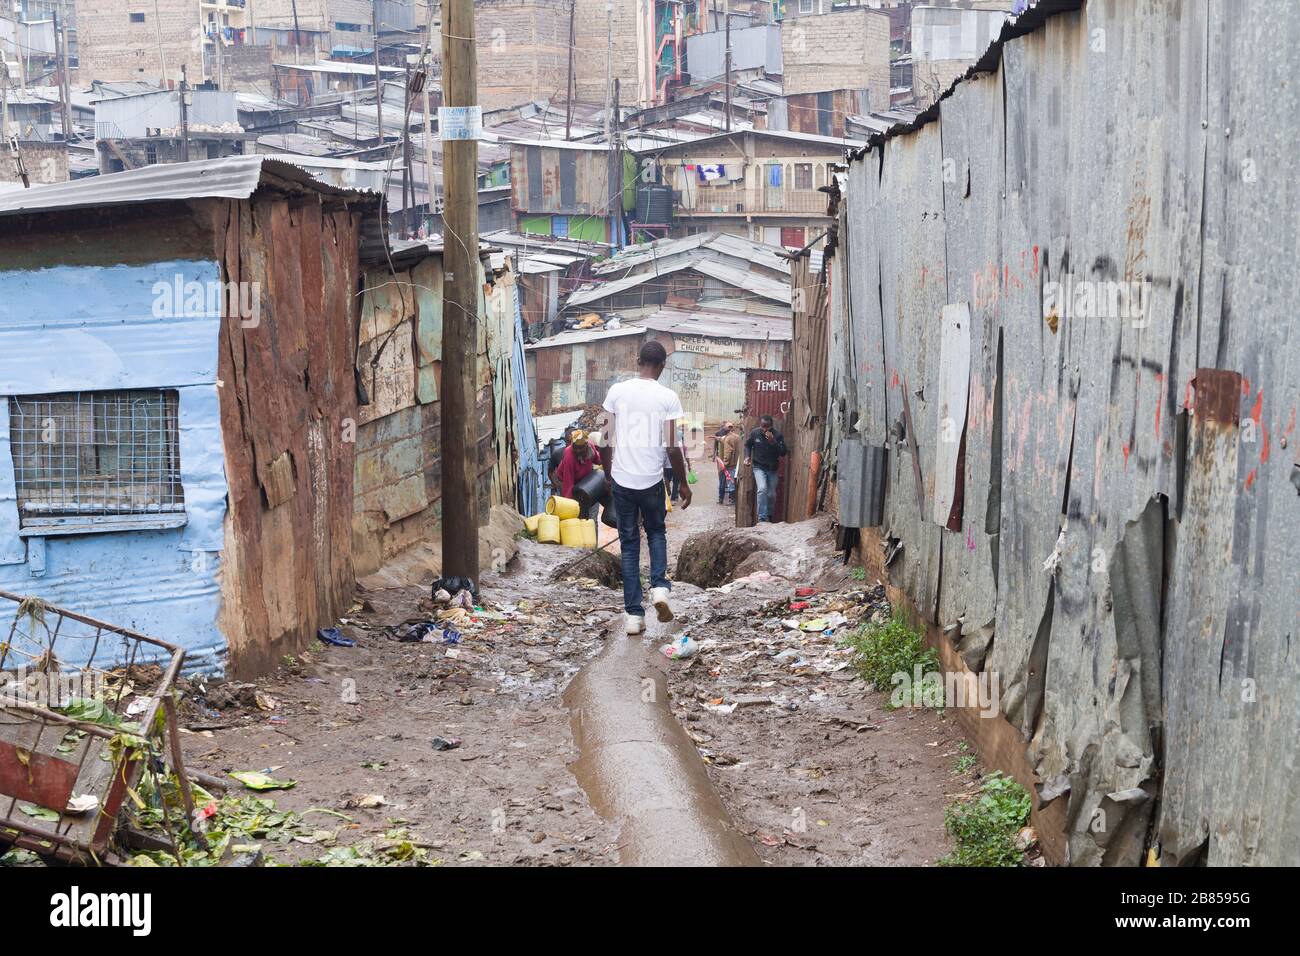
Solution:
[{"label": "window with metal grille in the blue shack wall", "polygon": [[9,399],[18,512],[43,518],[185,511],[174,390]]}]

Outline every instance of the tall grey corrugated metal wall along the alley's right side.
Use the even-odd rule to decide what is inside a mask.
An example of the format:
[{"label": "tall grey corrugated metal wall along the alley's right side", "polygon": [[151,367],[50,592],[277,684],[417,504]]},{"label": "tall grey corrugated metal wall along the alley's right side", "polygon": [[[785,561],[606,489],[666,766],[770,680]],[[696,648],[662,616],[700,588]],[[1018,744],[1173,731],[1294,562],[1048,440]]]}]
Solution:
[{"label": "tall grey corrugated metal wall along the alley's right side", "polygon": [[[1296,35],[1291,4],[1088,3],[850,166],[832,436],[889,446],[893,581],[1000,676],[1074,864],[1300,862]],[[1145,308],[1045,306],[1066,281]]]}]

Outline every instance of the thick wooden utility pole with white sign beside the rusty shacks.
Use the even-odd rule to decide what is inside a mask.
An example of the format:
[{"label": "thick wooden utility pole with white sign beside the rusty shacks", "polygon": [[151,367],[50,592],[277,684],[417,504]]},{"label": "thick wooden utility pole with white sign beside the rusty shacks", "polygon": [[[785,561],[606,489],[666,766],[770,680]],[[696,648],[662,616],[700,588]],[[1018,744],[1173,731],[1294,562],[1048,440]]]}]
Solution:
[{"label": "thick wooden utility pole with white sign beside the rusty shacks", "polygon": [[[442,91],[450,111],[474,112],[473,0],[445,0]],[[474,109],[471,109],[474,108]],[[443,138],[442,574],[478,578],[476,406],[478,394],[478,142]],[[472,117],[464,117],[469,126]],[[473,134],[477,135],[477,134]]]}]

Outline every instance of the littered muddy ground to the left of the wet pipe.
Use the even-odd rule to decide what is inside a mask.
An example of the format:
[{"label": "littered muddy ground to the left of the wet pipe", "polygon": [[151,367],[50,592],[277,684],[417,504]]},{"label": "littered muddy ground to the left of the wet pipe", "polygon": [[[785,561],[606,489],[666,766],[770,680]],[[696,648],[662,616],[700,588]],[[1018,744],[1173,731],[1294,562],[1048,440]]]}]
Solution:
[{"label": "littered muddy ground to the left of the wet pipe", "polygon": [[[404,826],[430,861],[448,865],[616,864],[616,830],[569,771],[577,750],[560,701],[602,646],[612,592],[552,585],[549,572],[573,553],[523,544],[521,568],[486,575],[482,587],[495,602],[532,601],[537,624],[467,631],[454,648],[402,644],[378,628],[428,614],[428,591],[365,593],[355,618],[370,628],[342,628],[355,648],[320,644],[259,682],[274,710],[252,700],[211,714],[186,708],[187,761],[217,775],[277,767],[273,777],[296,786],[261,796],[278,809],[346,814],[351,822],[304,818],[335,830],[338,845]],[[436,750],[434,736],[462,743]],[[373,796],[384,805],[359,806]],[[300,862],[329,845],[290,842],[270,853]]]}]

